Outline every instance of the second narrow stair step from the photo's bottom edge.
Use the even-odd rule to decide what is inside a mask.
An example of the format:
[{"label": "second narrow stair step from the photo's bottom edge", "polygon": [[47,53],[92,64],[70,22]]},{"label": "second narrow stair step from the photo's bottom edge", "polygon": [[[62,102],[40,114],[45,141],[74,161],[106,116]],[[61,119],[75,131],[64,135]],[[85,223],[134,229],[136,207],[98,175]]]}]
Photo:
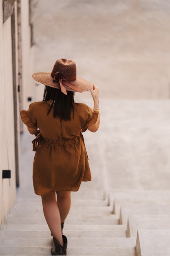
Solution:
[{"label": "second narrow stair step from the photo's bottom edge", "polygon": [[[33,246],[44,247],[52,245],[51,238],[1,238],[0,247]],[[68,238],[69,247],[135,247],[135,238]]]}]

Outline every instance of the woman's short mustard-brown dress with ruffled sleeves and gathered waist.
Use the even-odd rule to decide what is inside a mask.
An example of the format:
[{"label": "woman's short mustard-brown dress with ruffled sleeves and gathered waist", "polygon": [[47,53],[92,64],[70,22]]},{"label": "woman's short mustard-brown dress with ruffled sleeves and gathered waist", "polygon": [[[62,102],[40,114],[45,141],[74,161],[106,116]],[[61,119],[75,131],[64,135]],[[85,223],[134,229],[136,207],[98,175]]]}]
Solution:
[{"label": "woman's short mustard-brown dress with ruffled sleeves and gathered waist", "polygon": [[47,115],[47,101],[34,102],[21,110],[21,118],[29,128],[38,128],[32,141],[33,186],[35,193],[78,191],[82,181],[91,180],[88,156],[81,132],[96,123],[99,109],[92,110],[84,103],[74,103],[71,121]]}]

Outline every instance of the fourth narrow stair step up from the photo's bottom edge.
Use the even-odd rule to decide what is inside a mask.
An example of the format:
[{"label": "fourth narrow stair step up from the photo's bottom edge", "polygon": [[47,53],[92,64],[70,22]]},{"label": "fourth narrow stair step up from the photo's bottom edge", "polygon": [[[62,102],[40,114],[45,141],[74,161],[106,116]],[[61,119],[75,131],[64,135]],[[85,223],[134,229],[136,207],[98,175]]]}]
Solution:
[{"label": "fourth narrow stair step up from the photo's bottom edge", "polygon": [[[109,231],[109,230],[124,230],[126,229],[127,225],[67,225],[67,229],[69,231]],[[9,231],[9,230],[27,230],[27,231],[35,231],[35,230],[44,230],[47,231],[49,230],[48,225],[32,225],[32,224],[28,224],[28,225],[22,225],[22,224],[14,224],[14,225],[2,225],[1,226],[1,230],[2,231]]]}]

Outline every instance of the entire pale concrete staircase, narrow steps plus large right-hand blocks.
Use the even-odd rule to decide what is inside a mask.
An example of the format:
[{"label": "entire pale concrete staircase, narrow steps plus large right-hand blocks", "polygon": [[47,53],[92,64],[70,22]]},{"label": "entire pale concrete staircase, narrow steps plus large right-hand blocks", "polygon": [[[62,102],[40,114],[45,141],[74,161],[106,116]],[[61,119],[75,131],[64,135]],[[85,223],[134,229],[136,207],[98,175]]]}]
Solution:
[{"label": "entire pale concrete staircase, narrow steps plus large right-hand blocks", "polygon": [[[111,191],[73,198],[64,224],[71,256],[169,256],[170,191]],[[0,231],[0,256],[51,255],[40,197],[18,198]]]}]

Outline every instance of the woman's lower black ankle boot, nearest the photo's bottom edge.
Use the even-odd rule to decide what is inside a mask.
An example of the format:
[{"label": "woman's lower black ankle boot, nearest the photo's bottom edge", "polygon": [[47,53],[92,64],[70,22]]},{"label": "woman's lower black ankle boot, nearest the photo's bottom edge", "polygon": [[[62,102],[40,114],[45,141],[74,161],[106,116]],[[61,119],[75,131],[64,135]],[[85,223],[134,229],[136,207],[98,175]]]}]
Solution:
[{"label": "woman's lower black ankle boot, nearest the photo's bottom edge", "polygon": [[53,246],[51,247],[52,255],[67,255],[67,238],[62,236],[64,245],[60,245],[53,237]]}]

